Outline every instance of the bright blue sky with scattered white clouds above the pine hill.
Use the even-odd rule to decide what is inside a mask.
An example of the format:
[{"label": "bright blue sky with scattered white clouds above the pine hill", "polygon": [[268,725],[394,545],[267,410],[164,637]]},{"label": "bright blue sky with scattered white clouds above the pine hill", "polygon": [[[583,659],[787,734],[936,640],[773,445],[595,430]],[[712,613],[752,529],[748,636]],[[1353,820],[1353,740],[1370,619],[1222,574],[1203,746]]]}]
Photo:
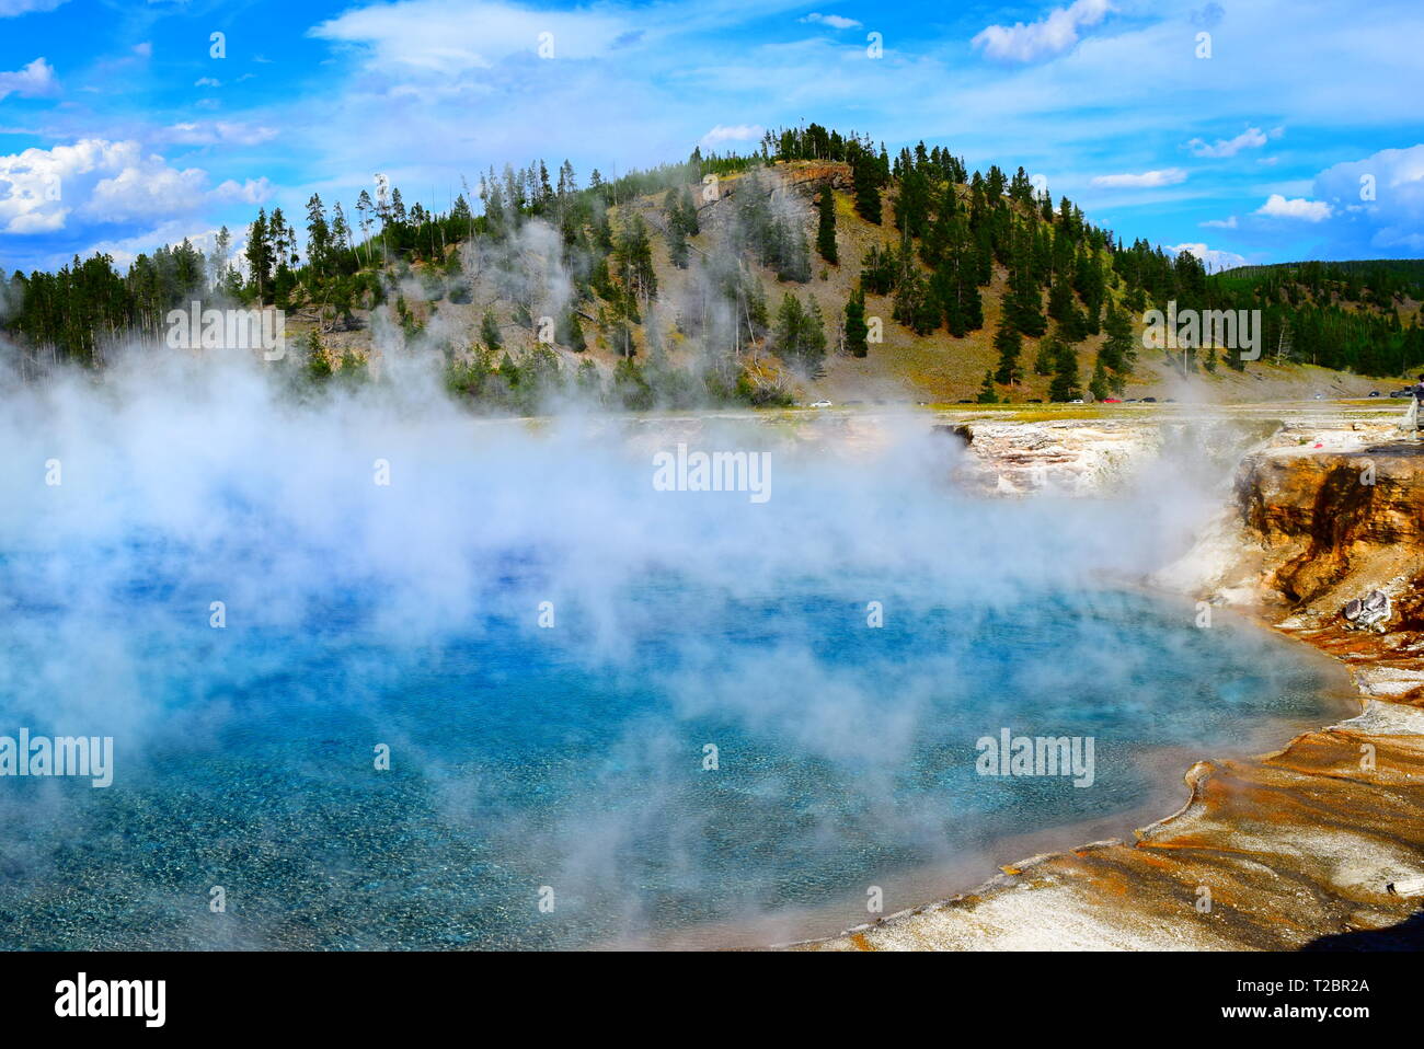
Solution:
[{"label": "bright blue sky with scattered white clouds above the pine hill", "polygon": [[1417,0],[0,0],[0,268],[812,120],[1024,165],[1216,266],[1421,256],[1421,46]]}]

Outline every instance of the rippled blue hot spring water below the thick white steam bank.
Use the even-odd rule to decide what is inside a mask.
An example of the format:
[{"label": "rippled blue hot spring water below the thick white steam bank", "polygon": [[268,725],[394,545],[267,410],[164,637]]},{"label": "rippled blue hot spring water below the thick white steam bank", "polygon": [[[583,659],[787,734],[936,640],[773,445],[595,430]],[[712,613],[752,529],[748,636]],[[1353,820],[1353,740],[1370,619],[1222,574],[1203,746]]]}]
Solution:
[{"label": "rippled blue hot spring water below the thick white steam bank", "polygon": [[[658,938],[1128,811],[1155,789],[1153,749],[1230,749],[1326,709],[1319,666],[1279,641],[1131,592],[981,601],[846,574],[726,589],[664,569],[561,599],[544,629],[541,574],[510,557],[478,612],[439,629],[335,579],[212,629],[211,581],[158,538],[118,603],[0,562],[0,732],[112,733],[117,766],[107,790],[0,781],[0,944]],[[1094,786],[977,774],[975,740],[1001,727],[1094,737]]]}]

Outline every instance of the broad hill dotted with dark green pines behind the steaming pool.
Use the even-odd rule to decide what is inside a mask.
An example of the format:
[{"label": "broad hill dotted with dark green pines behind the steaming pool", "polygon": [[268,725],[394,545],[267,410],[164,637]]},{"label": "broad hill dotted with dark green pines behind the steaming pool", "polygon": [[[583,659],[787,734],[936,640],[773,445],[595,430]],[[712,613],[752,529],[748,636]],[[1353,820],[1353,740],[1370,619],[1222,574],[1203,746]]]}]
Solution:
[{"label": "broad hill dotted with dark green pines behind the steaming pool", "polygon": [[[478,199],[478,214],[473,199]],[[0,269],[0,356],[24,379],[101,369],[165,316],[275,306],[303,383],[362,381],[382,354],[441,354],[449,390],[491,411],[562,394],[609,407],[789,404],[827,357],[874,357],[889,332],[973,362],[981,403],[1121,394],[1145,350],[1143,312],[1263,315],[1263,357],[1368,376],[1424,366],[1424,265],[1247,266],[1208,275],[1190,253],[1124,245],[1057,208],[1022,168],[968,172],[941,147],[890,157],[810,124],[742,157],[580,185],[565,161],[491,168],[444,212],[377,181],[353,209],[313,195],[299,232],[259,211],[140,255],[75,258],[57,273]],[[975,337],[975,333],[980,333]],[[984,346],[993,353],[985,354]],[[973,354],[980,356],[973,356]],[[1253,367],[1239,352],[1176,352],[1183,374]]]}]

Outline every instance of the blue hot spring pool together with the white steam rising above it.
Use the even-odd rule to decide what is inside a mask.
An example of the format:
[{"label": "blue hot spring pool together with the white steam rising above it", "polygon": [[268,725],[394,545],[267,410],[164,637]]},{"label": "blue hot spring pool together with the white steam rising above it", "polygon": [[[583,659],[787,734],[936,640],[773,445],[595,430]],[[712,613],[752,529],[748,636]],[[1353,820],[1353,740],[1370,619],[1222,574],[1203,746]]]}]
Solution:
[{"label": "blue hot spring pool together with the white steam rising above it", "polygon": [[[115,766],[0,779],[4,947],[578,947],[893,898],[1139,804],[1155,747],[1323,710],[1293,650],[1122,589],[1179,485],[980,501],[923,418],[527,427],[419,374],[296,404],[130,367],[0,421],[0,734]],[[772,498],[655,491],[678,440],[769,450]],[[977,774],[1005,727],[1094,737],[1094,784]]]}]

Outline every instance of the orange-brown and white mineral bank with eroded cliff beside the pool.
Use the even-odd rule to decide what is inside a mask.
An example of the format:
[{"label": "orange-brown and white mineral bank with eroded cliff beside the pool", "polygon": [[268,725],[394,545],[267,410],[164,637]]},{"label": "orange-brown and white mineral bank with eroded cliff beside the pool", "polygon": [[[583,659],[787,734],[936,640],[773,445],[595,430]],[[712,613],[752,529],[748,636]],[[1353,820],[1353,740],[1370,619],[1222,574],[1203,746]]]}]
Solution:
[{"label": "orange-brown and white mineral bank with eroded cliff beside the pool", "polygon": [[[971,892],[797,949],[1420,947],[1424,897],[1424,444],[1282,430],[1156,582],[1232,603],[1350,668],[1364,712],[1242,761],[1199,761],[1134,841],[1002,867]],[[1344,629],[1384,589],[1383,632]],[[1401,887],[1398,882],[1404,882]],[[1401,891],[1403,888],[1403,891]]]}]

